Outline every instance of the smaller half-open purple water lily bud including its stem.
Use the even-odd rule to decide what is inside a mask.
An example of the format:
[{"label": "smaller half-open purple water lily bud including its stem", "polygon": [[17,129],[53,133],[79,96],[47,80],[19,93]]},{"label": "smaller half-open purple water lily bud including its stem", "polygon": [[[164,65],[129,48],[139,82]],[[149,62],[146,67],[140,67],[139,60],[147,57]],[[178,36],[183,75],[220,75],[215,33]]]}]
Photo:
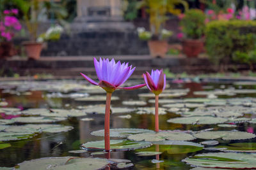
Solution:
[{"label": "smaller half-open purple water lily bud including its stem", "polygon": [[163,69],[159,71],[156,69],[155,71],[152,69],[151,75],[146,72],[143,74],[145,83],[148,89],[156,95],[155,101],[155,131],[159,132],[159,119],[158,119],[158,99],[159,94],[163,92],[166,86],[166,76],[163,73]]}]

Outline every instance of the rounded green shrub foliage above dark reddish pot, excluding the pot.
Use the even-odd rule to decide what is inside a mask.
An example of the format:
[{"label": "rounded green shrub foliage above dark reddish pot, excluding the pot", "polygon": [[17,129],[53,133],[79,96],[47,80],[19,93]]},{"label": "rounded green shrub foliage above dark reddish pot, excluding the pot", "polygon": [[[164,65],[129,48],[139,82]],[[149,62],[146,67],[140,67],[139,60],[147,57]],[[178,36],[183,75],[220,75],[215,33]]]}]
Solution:
[{"label": "rounded green shrub foliage above dark reddish pot, excluding the pot", "polygon": [[201,10],[188,10],[185,17],[180,21],[182,31],[187,38],[202,38],[205,31],[205,14]]}]

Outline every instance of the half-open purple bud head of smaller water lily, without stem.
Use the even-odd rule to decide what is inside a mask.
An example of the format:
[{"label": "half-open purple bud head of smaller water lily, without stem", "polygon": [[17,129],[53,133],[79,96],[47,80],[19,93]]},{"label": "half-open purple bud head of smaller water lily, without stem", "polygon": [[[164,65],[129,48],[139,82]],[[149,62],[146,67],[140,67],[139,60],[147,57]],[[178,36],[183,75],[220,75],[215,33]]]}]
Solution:
[{"label": "half-open purple bud head of smaller water lily, without stem", "polygon": [[159,95],[165,89],[166,76],[163,73],[163,69],[161,69],[161,71],[159,71],[158,69],[154,71],[152,69],[151,75],[146,72],[145,74],[143,74],[143,77],[148,89],[154,94]]}]

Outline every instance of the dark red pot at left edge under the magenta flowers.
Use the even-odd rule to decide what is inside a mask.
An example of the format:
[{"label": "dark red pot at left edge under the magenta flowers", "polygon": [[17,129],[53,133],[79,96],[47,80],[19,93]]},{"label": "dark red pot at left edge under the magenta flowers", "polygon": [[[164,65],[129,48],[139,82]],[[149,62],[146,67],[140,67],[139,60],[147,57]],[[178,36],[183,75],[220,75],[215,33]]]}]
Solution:
[{"label": "dark red pot at left edge under the magenta flowers", "polygon": [[0,43],[0,58],[12,57],[17,54],[12,42],[2,42]]}]

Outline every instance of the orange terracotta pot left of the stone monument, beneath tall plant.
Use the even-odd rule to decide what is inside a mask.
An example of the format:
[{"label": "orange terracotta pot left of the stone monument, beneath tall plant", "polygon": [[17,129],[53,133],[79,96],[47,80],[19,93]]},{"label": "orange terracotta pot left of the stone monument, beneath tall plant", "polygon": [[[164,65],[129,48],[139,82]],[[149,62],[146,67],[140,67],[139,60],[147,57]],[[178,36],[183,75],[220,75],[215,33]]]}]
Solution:
[{"label": "orange terracotta pot left of the stone monument, beneath tall plant", "polygon": [[26,54],[29,59],[38,60],[42,51],[42,43],[36,43],[34,41],[25,41],[22,43],[25,47]]}]

